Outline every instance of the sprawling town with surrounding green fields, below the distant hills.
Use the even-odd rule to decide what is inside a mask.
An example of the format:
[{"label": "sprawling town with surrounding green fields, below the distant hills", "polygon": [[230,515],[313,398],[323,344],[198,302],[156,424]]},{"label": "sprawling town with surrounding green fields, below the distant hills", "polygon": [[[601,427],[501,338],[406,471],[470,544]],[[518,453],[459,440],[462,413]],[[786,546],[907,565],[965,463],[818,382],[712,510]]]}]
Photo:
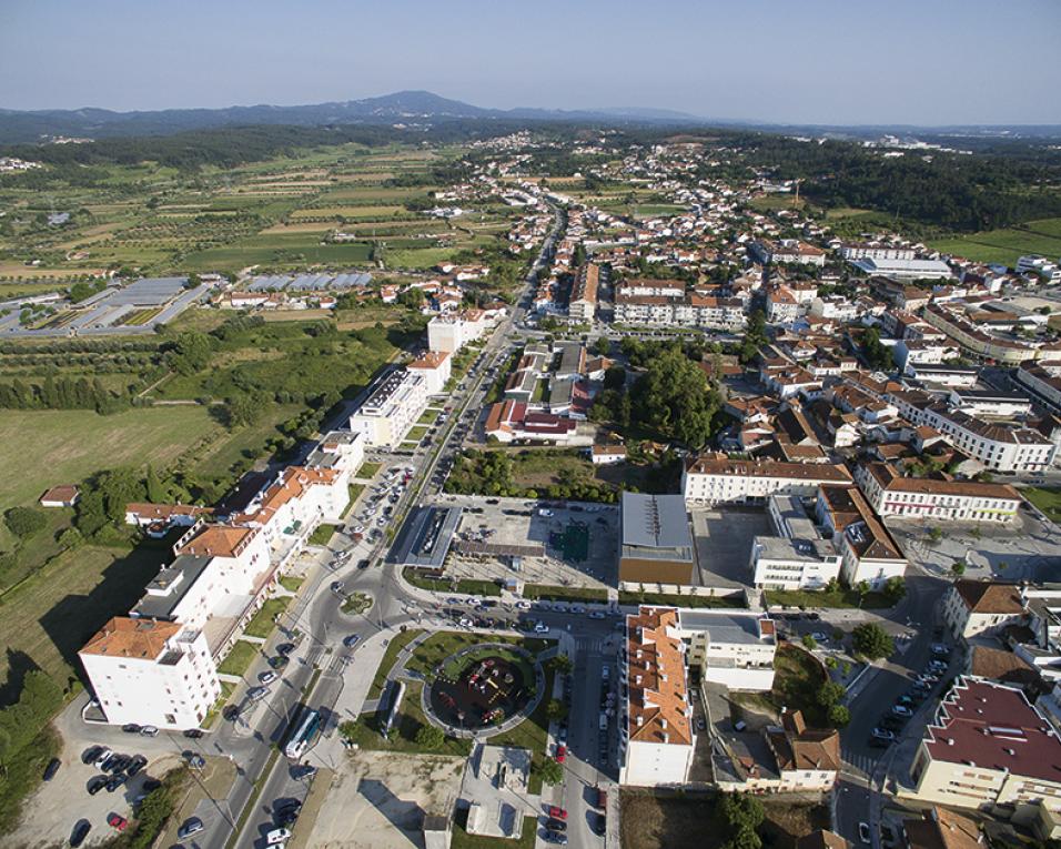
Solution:
[{"label": "sprawling town with surrounding green fields, below the distant hills", "polygon": [[6,846],[1061,840],[1061,219],[590,122],[31,214],[58,143],[0,158]]}]

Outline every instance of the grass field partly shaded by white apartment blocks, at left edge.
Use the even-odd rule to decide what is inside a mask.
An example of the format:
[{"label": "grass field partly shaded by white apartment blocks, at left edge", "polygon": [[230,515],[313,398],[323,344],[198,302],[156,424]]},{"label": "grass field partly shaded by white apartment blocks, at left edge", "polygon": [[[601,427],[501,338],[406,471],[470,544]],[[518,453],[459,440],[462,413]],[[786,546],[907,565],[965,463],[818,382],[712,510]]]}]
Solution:
[{"label": "grass field partly shaded by white apartment blocks, at left edge", "polygon": [[[0,703],[12,671],[37,665],[65,684],[80,671],[78,649],[112,616],[124,615],[161,567],[163,552],[82,546],[51,560],[0,598]],[[12,670],[12,666],[16,667]],[[21,681],[21,675],[14,678]]]}]

